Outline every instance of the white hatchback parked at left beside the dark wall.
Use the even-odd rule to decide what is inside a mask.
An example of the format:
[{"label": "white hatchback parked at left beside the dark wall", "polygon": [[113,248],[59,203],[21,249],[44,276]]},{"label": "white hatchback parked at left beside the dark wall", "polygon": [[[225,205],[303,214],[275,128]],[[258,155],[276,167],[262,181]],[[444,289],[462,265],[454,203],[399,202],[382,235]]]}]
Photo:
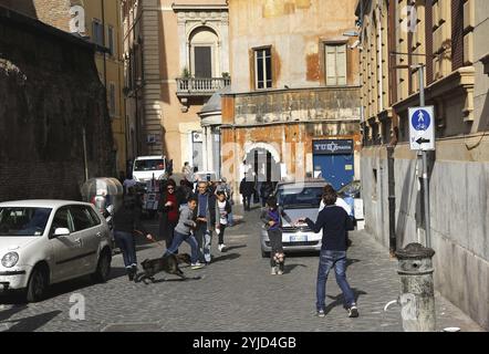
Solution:
[{"label": "white hatchback parked at left beside the dark wall", "polygon": [[0,202],[0,293],[24,290],[29,302],[50,284],[111,271],[107,223],[93,205],[67,200]]}]

